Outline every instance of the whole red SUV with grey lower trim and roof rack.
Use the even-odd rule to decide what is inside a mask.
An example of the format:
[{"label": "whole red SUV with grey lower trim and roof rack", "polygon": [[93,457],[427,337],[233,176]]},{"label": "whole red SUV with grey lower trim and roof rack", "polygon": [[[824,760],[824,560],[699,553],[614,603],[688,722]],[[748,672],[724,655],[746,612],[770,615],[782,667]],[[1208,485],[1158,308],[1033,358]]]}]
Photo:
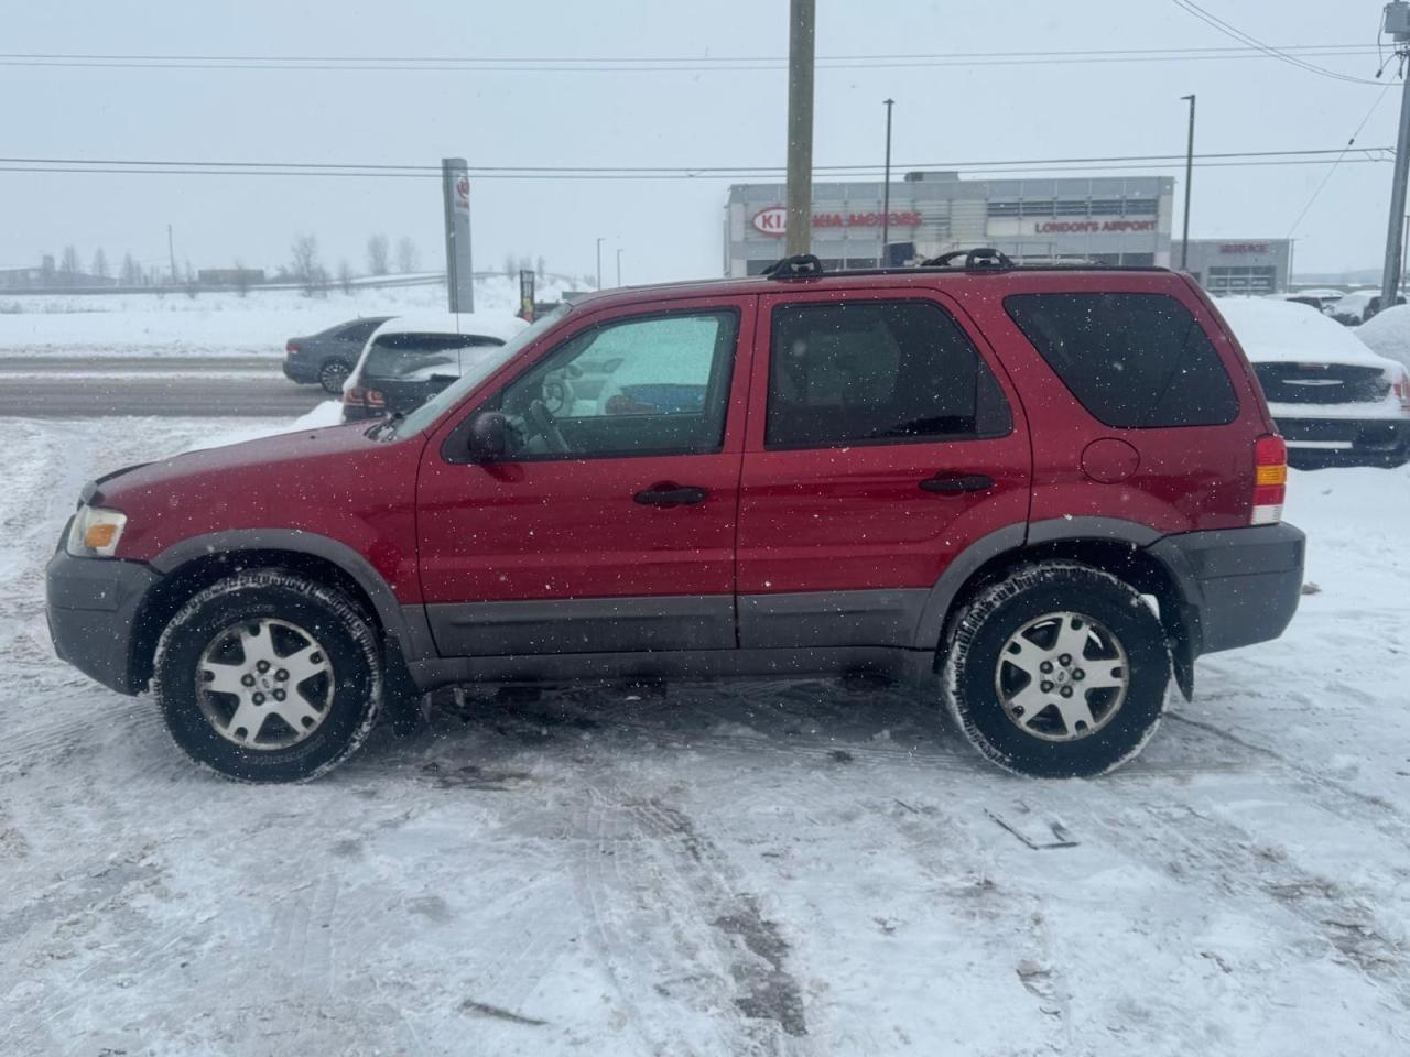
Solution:
[{"label": "whole red SUV with grey lower trim and roof rack", "polygon": [[444,685],[859,669],[1001,767],[1096,775],[1172,675],[1287,626],[1285,476],[1186,276],[795,261],[564,306],[405,417],[102,478],[48,613],[241,779]]}]

